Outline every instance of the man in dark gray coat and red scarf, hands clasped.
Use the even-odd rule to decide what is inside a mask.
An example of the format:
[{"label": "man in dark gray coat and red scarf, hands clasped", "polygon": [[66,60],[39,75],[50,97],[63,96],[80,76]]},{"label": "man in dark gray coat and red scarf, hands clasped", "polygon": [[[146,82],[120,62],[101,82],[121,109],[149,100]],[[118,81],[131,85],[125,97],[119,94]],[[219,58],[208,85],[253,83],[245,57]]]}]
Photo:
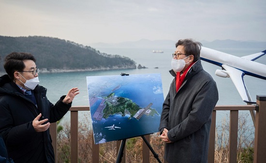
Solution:
[{"label": "man in dark gray coat and red scarf, hands clasped", "polygon": [[179,40],[171,62],[175,78],[163,103],[159,131],[168,163],[207,163],[216,83],[201,65],[201,43]]}]

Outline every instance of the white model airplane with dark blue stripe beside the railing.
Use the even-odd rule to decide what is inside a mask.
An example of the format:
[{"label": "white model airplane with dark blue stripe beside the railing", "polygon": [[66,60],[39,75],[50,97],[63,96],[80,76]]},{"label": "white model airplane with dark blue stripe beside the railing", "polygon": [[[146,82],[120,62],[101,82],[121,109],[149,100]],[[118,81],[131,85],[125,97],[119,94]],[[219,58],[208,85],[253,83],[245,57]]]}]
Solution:
[{"label": "white model airplane with dark blue stripe beside the railing", "polygon": [[[250,75],[266,80],[266,65],[254,62],[265,54],[266,50],[244,57],[236,57],[207,47],[201,47],[200,58],[222,67],[222,70],[216,70],[215,74],[221,77],[230,77],[242,100],[247,104],[254,104],[255,102],[252,102],[249,91],[245,86],[243,76]],[[255,122],[255,111],[251,111],[251,117]]]}]

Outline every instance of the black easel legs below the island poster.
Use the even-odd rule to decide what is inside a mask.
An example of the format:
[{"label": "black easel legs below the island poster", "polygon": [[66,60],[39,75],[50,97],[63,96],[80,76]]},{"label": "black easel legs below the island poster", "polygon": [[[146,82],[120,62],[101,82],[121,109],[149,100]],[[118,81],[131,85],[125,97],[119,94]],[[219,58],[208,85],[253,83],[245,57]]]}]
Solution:
[{"label": "black easel legs below the island poster", "polygon": [[[141,137],[144,140],[144,142],[147,144],[149,150],[152,152],[154,158],[156,158],[159,163],[162,163],[161,160],[159,159],[159,155],[157,153],[155,153],[155,151],[150,146],[149,142],[144,137],[144,135],[142,135]],[[122,157],[123,157],[123,154],[124,154],[124,148],[125,148],[126,140],[127,139],[123,139],[122,142],[121,142],[121,144],[120,144],[120,148],[119,148],[119,151],[118,151],[118,157],[117,157],[117,163],[121,163],[121,161],[122,161]]]}]

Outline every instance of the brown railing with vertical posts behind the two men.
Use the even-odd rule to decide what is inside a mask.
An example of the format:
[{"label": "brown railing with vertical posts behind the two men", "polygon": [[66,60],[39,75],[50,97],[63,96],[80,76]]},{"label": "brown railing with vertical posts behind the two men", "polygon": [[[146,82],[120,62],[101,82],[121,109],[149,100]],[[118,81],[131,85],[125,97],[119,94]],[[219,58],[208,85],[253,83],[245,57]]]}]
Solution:
[{"label": "brown railing with vertical posts behind the two men", "polygon": [[[214,163],[215,155],[215,132],[216,132],[216,112],[220,110],[230,111],[230,128],[229,128],[229,163],[236,163],[237,159],[237,127],[238,127],[238,111],[240,110],[255,110],[255,137],[254,137],[254,163],[266,163],[266,96],[257,95],[256,105],[217,105],[212,113],[212,122],[209,138],[208,163]],[[73,106],[71,112],[71,163],[78,163],[78,111],[89,111],[89,106]],[[57,163],[57,124],[52,123],[50,133],[55,150]],[[91,135],[93,139],[93,135]],[[150,135],[145,138],[150,140]],[[121,141],[117,141],[117,147]],[[119,148],[117,148],[118,153]],[[149,163],[149,148],[143,143],[142,156],[143,163]],[[126,152],[124,149],[124,156]],[[99,163],[99,144],[92,143],[92,163]],[[121,163],[125,163],[125,157]],[[164,163],[167,163],[164,161]]]}]

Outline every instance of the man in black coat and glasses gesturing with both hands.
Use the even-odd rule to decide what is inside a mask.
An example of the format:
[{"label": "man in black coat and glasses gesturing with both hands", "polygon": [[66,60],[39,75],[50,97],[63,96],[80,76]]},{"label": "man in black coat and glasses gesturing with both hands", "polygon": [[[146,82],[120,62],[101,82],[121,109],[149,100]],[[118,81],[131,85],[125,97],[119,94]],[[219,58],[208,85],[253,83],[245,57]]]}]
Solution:
[{"label": "man in black coat and glasses gesturing with both hands", "polygon": [[70,89],[54,105],[39,86],[38,69],[30,53],[6,56],[7,74],[0,77],[0,134],[15,163],[54,163],[50,123],[71,107],[77,88]]}]

